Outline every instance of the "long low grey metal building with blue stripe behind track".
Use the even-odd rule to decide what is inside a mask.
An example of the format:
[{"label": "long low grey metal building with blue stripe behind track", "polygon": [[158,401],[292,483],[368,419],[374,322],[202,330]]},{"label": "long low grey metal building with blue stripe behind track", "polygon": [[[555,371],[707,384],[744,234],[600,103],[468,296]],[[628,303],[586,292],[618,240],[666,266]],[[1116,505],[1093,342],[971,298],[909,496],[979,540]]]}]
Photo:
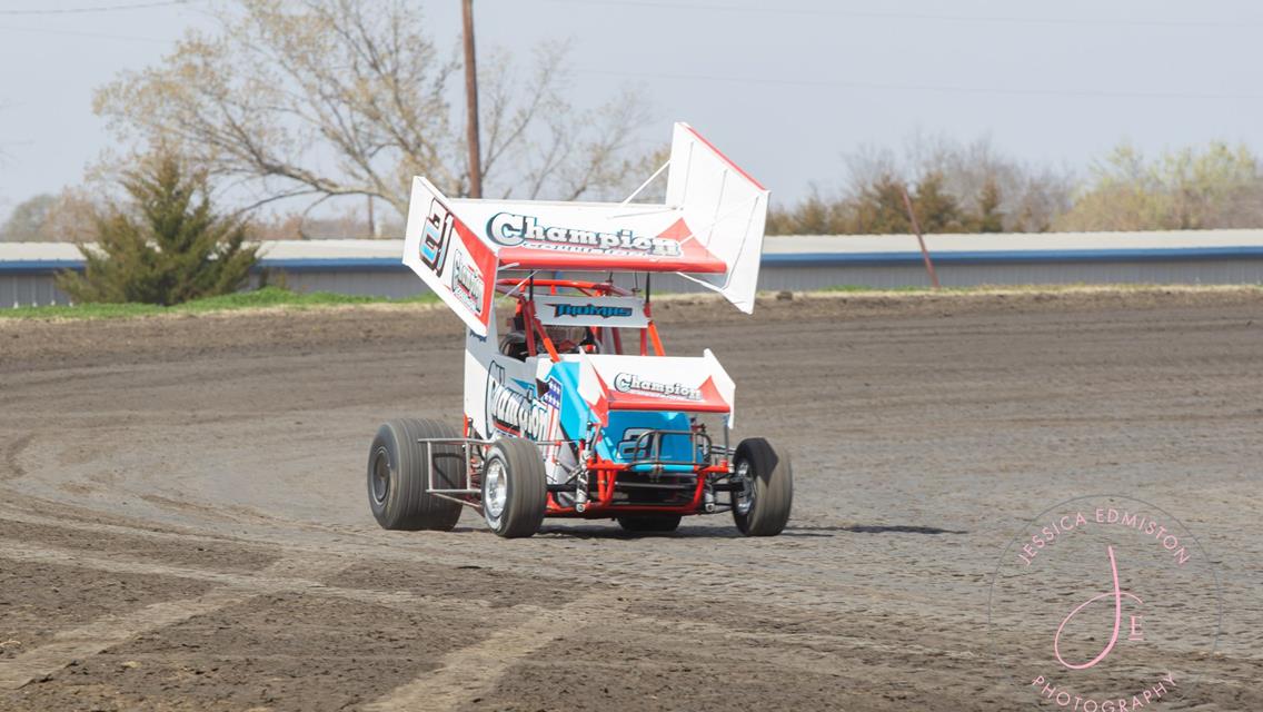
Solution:
[{"label": "long low grey metal building with blue stripe behind track", "polygon": [[[975,285],[1260,285],[1263,229],[1149,233],[927,235],[943,286]],[[424,291],[400,263],[403,240],[264,243],[254,278],[296,291],[404,297]],[[0,243],[0,307],[68,304],[53,285],[62,269],[82,269],[69,243]],[[839,285],[928,285],[912,235],[768,236],[759,287],[813,290]],[[700,291],[674,276],[654,291]]]}]

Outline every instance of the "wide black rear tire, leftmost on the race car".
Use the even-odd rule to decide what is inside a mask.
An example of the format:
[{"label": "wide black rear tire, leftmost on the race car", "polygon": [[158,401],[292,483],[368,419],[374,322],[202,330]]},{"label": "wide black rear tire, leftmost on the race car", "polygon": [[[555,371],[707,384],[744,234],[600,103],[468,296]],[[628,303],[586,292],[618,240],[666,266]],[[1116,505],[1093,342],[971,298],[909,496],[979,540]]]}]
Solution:
[{"label": "wide black rear tire, leftmost on the race car", "polygon": [[[461,519],[461,505],[431,494],[431,463],[421,438],[460,438],[455,427],[437,420],[397,419],[378,429],[369,449],[369,507],[381,529],[451,531]],[[460,445],[434,445],[434,487],[464,489],[469,481]]]}]

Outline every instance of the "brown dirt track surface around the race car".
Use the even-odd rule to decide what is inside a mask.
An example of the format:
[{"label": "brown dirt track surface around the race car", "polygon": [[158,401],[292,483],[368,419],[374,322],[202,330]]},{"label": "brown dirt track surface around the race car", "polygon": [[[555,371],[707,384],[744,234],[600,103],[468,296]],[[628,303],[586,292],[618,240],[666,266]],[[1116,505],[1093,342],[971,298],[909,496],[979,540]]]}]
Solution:
[{"label": "brown dirt track surface around the race car", "polygon": [[441,311],[0,322],[0,709],[1033,708],[990,575],[1094,492],[1219,567],[1210,674],[1158,708],[1263,708],[1258,292],[655,314],[793,453],[784,535],[381,531],[376,425],[460,419]]}]

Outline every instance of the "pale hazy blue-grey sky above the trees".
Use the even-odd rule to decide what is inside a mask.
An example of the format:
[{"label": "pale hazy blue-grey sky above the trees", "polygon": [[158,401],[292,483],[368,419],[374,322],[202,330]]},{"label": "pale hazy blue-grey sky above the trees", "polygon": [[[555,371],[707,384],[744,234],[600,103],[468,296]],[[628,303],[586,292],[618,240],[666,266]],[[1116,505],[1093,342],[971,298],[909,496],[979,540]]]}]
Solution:
[{"label": "pale hazy blue-grey sky above the trees", "polygon": [[[0,0],[0,219],[80,182],[114,142],[93,90],[210,27],[210,1]],[[441,44],[458,42],[460,0],[417,1]],[[839,187],[847,153],[916,133],[1063,167],[1124,139],[1263,150],[1249,0],[475,0],[475,21],[480,56],[567,44],[577,105],[639,87],[648,143],[688,121],[777,202]]]}]

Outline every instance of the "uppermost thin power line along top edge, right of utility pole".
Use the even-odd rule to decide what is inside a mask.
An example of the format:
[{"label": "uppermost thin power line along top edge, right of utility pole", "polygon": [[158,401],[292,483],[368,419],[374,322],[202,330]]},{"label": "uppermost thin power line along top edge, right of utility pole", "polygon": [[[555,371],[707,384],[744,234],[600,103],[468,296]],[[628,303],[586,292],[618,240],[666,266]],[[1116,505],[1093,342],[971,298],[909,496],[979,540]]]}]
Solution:
[{"label": "uppermost thin power line along top edge, right of utility pole", "polygon": [[705,10],[716,13],[758,13],[765,15],[807,15],[830,18],[880,19],[880,20],[932,20],[945,23],[1000,23],[1000,24],[1060,24],[1105,27],[1161,27],[1161,28],[1258,28],[1260,21],[1235,20],[1142,20],[1109,18],[1023,18],[1018,15],[943,15],[938,13],[892,13],[866,10],[836,10],[810,8],[758,8],[751,5],[721,5],[709,3],[667,3],[663,0],[549,0],[567,5],[602,5],[623,8],[649,8],[666,10]]}]

